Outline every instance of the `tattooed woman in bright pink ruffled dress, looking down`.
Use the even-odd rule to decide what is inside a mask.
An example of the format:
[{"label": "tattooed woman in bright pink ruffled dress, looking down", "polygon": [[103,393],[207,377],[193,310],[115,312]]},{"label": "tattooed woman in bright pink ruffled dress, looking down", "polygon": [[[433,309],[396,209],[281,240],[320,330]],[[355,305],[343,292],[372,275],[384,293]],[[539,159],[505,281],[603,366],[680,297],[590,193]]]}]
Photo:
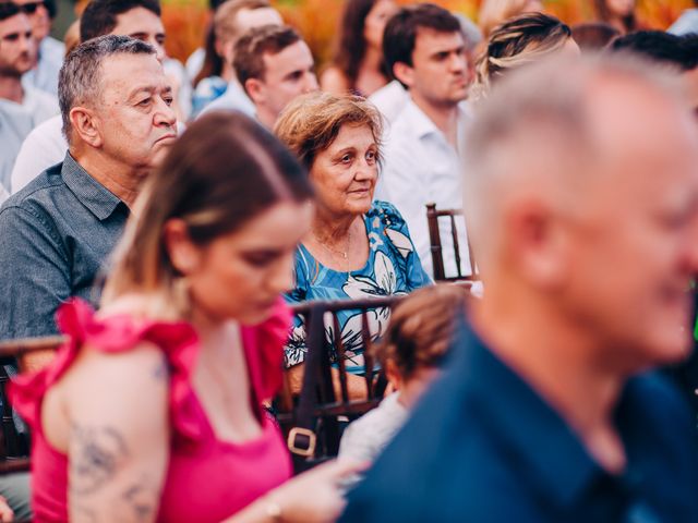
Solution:
[{"label": "tattooed woman in bright pink ruffled dress, looking down", "polygon": [[311,194],[293,156],[238,113],[203,117],[170,149],[100,311],[64,304],[69,341],[13,384],[33,427],[37,521],[334,521],[337,483],[357,467],[288,481],[288,449],[262,406],[282,381],[280,293]]}]

